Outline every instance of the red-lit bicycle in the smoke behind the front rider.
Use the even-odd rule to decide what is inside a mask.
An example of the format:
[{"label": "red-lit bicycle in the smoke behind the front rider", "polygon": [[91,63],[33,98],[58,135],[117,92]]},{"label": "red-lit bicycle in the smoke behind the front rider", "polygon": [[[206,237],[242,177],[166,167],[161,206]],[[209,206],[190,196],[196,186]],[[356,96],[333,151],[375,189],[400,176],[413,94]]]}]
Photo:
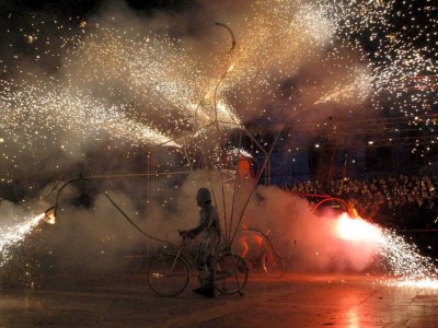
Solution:
[{"label": "red-lit bicycle in the smoke behind the front rider", "polygon": [[256,236],[260,238],[260,242],[257,242],[261,249],[258,254],[251,259],[246,258],[245,254],[242,256],[246,261],[249,269],[252,269],[261,260],[262,268],[267,276],[275,279],[281,278],[285,274],[287,268],[286,258],[281,257],[280,255],[278,255],[278,253],[275,251],[274,246],[269,242],[268,237],[261,231],[251,227],[245,227],[243,229],[243,231],[254,231],[258,234]]}]

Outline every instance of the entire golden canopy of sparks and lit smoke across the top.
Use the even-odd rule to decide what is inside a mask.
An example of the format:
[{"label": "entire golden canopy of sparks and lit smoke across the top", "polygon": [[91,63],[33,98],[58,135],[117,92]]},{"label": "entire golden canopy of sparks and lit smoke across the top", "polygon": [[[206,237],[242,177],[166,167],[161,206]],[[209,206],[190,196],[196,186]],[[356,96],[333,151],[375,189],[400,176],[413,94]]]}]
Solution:
[{"label": "entire golden canopy of sparks and lit smoke across the top", "polygon": [[[416,89],[420,101],[406,101],[412,89],[405,81],[436,75],[437,21],[435,9],[427,7],[423,19],[430,24],[397,30],[400,15],[415,19],[407,2],[406,10],[396,11],[393,0],[254,1],[243,20],[230,26],[239,32],[232,49],[208,58],[185,39],[120,28],[111,23],[114,17],[105,24],[79,20],[76,28],[54,21],[56,39],[43,34],[41,26],[48,22],[38,22],[34,14],[21,43],[37,54],[36,62],[58,58],[57,74],[21,68],[18,55],[11,59],[18,66],[4,65],[4,72],[13,68],[18,78],[1,85],[3,143],[20,142],[32,152],[35,143],[59,147],[66,132],[83,143],[105,131],[116,142],[177,147],[173,140],[215,120],[224,129],[241,125],[246,113],[263,103],[299,110],[306,104],[295,102],[291,94],[297,92],[311,104],[371,101],[374,108],[382,108],[381,95],[389,92],[403,115],[413,108],[427,112],[436,101],[426,99],[433,89],[420,84]],[[13,19],[11,14],[9,20]],[[416,33],[404,33],[405,27]],[[426,46],[416,47],[418,39]],[[365,40],[377,49],[368,51]],[[309,65],[321,71],[323,80],[331,77],[328,82],[308,77],[306,89],[285,90],[283,81],[295,79]],[[269,113],[260,110],[269,119]]]}]

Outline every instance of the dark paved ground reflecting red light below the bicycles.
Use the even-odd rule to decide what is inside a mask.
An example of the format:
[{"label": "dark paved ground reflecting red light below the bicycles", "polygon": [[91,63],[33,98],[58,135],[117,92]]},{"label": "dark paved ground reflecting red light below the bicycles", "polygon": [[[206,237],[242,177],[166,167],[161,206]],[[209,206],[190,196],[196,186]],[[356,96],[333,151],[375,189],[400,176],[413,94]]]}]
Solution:
[{"label": "dark paved ground reflecting red light below the bicycles", "polygon": [[[194,281],[195,279],[193,279]],[[0,327],[438,327],[438,291],[366,276],[250,277],[244,296],[152,294],[141,277],[0,290]]]}]

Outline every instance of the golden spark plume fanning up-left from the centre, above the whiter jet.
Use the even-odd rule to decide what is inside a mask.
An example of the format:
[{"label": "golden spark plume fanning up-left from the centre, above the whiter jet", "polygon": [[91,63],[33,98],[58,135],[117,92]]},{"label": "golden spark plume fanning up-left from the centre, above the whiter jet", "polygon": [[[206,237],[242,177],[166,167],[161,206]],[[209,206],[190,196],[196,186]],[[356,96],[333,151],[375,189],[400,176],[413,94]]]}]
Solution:
[{"label": "golden spark plume fanning up-left from the centre, above the whiter jet", "polygon": [[[161,118],[169,118],[162,129],[198,128],[216,117],[212,90],[218,81],[178,39],[96,27],[71,49],[64,69],[72,72],[69,81],[81,81],[111,97],[123,96],[117,85],[128,87],[129,97],[147,106],[140,116],[163,112]],[[224,102],[219,102],[218,120],[239,122]]]}]

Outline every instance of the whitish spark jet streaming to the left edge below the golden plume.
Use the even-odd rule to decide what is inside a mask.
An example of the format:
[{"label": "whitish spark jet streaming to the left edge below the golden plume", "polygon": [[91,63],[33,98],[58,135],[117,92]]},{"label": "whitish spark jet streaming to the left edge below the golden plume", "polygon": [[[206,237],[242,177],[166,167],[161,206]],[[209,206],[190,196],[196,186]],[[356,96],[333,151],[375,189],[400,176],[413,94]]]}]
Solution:
[{"label": "whitish spark jet streaming to the left edge below the golden plume", "polygon": [[1,86],[3,93],[0,92],[0,106],[4,110],[2,127],[16,136],[27,133],[25,140],[31,142],[31,150],[33,143],[39,141],[39,136],[47,139],[45,134],[38,133],[38,129],[54,129],[56,132],[59,127],[78,133],[105,129],[113,137],[126,138],[132,143],[168,142],[170,147],[177,147],[160,131],[127,118],[124,110],[120,110],[123,106],[105,106],[79,90],[72,93],[55,86],[44,90],[22,83],[18,91],[12,91],[4,81]]}]

